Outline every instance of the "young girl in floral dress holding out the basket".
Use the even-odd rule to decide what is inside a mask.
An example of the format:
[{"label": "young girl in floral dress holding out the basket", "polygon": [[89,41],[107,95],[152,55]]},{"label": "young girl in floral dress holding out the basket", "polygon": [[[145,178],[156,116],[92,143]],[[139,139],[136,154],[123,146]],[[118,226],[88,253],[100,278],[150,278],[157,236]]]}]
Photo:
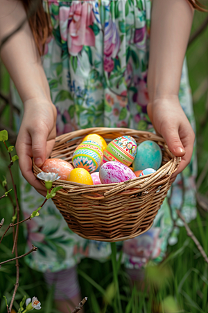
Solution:
[{"label": "young girl in floral dress holding out the basket", "polygon": [[[0,0],[0,40],[26,17],[31,2]],[[139,279],[139,269],[149,259],[161,261],[167,244],[177,241],[175,209],[187,222],[196,217],[194,118],[184,55],[193,8],[200,7],[194,0],[39,2],[37,13],[1,49],[24,106],[16,145],[26,179],[22,209],[28,216],[42,202],[37,191],[46,195],[33,175],[31,158],[42,166],[56,135],[87,127],[151,131],[154,126],[169,150],[182,157],[175,177],[185,170],[177,175],[152,229],[123,243],[123,262],[132,279]],[[19,96],[14,96],[16,104]],[[80,259],[110,255],[109,243],[73,234],[52,202],[28,223],[27,239],[28,247],[33,243],[38,250],[26,262],[42,271],[46,282],[55,282],[61,312],[68,312],[68,298],[80,301]]]}]

